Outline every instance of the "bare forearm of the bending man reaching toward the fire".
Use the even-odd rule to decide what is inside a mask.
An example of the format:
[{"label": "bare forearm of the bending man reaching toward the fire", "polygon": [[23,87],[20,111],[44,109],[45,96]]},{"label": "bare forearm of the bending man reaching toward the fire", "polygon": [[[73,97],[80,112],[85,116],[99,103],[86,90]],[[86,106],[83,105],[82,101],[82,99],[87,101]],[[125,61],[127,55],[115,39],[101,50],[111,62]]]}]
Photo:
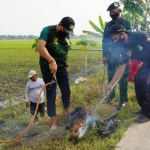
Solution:
[{"label": "bare forearm of the bending man reaching toward the fire", "polygon": [[125,69],[126,69],[127,63],[123,65],[119,65],[119,68],[117,69],[113,79],[109,82],[107,86],[107,91],[110,91],[114,83],[123,76]]}]

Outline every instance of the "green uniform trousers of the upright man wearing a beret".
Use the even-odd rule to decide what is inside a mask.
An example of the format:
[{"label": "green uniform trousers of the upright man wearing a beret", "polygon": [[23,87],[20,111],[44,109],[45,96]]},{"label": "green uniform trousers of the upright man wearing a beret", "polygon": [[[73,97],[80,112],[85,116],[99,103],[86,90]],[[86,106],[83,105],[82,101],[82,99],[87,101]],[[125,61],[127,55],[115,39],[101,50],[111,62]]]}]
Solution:
[{"label": "green uniform trousers of the upright man wearing a beret", "polygon": [[[113,79],[113,76],[118,69],[119,66],[119,57],[120,53],[119,51],[113,51],[109,54],[108,57],[108,83]],[[119,81],[119,88],[120,88],[120,104],[128,101],[128,77],[129,77],[129,69],[126,68],[124,75]],[[116,97],[115,94],[115,88],[113,89],[112,93],[110,94],[110,99],[113,99]]]}]

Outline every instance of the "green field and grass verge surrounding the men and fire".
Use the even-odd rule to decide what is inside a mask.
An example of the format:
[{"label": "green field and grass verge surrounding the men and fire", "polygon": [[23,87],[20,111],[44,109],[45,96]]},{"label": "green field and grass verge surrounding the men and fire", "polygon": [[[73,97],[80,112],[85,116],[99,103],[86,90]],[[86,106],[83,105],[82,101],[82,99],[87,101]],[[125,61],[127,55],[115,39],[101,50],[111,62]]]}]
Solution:
[{"label": "green field and grass verge surrounding the men and fire", "polygon": [[[77,40],[71,41],[73,47]],[[24,95],[25,85],[28,81],[27,72],[30,69],[35,69],[38,76],[41,77],[38,65],[38,53],[31,49],[32,40],[14,40],[0,41],[0,101],[15,100],[20,95]],[[98,42],[98,41],[97,41]],[[69,52],[69,68],[71,71],[71,106],[73,110],[77,106],[85,106],[86,108],[94,109],[100,100],[100,88],[103,83],[103,65],[101,63],[101,51],[87,52],[87,76],[86,82],[79,85],[74,84],[77,76],[85,76],[85,52],[80,50],[70,50]],[[102,96],[105,94],[107,85],[107,77],[105,77]],[[118,86],[117,98],[110,104],[100,106],[98,111],[102,114],[101,117],[107,117],[114,113],[113,106],[118,104],[119,91]],[[44,118],[39,118],[39,125],[33,124],[29,131],[14,143],[0,145],[0,149],[7,150],[114,150],[115,145],[123,136],[125,131],[132,125],[135,115],[133,111],[139,108],[133,84],[129,83],[128,88],[128,103],[126,109],[118,112],[117,120],[118,127],[114,133],[107,138],[102,138],[96,129],[89,130],[83,139],[78,141],[69,141],[69,133],[65,131],[64,116],[57,97],[57,120],[59,129],[57,132],[49,130],[47,114]],[[0,112],[0,140],[8,140],[16,137],[29,123],[31,115],[29,110],[25,108],[23,98],[19,98],[22,102],[17,106],[12,106],[8,102],[9,109],[1,110]]]}]

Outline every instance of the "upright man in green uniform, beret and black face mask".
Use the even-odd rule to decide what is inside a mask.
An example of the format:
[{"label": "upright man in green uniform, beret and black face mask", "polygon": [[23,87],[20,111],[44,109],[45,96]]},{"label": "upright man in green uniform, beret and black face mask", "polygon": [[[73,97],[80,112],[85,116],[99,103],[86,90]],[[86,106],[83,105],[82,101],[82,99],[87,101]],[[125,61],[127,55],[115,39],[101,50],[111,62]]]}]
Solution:
[{"label": "upright man in green uniform, beret and black face mask", "polygon": [[[131,28],[130,28],[129,21],[121,17],[121,9],[120,9],[120,4],[118,2],[112,3],[108,7],[107,11],[109,11],[112,20],[108,22],[105,26],[104,35],[102,39],[102,49],[103,49],[103,64],[104,65],[108,64],[108,82],[110,82],[115,74],[115,71],[119,66],[118,58],[120,54],[117,46],[113,44],[108,31],[115,24],[123,25],[126,30],[130,30]],[[128,100],[128,96],[127,96],[128,75],[129,75],[129,70],[127,68],[124,76],[119,82],[120,102],[119,105],[117,105],[116,107],[117,110],[119,110],[121,107],[124,107],[125,102],[127,102]],[[115,90],[113,90],[110,97],[106,99],[103,103],[108,103],[115,97],[116,97]]]}]

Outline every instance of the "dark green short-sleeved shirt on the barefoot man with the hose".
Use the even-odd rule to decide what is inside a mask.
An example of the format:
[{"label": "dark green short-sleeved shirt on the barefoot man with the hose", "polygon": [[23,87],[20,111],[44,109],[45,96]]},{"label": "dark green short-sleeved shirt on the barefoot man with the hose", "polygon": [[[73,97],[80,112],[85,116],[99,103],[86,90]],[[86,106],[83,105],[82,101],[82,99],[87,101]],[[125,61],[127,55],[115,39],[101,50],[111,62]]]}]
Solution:
[{"label": "dark green short-sleeved shirt on the barefoot man with the hose", "polygon": [[[39,40],[47,42],[46,48],[49,54],[55,59],[58,69],[61,71],[66,67],[67,54],[69,45],[67,38],[60,38],[56,32],[56,25],[43,28]],[[49,68],[49,63],[46,59],[40,56],[40,66]]]}]

